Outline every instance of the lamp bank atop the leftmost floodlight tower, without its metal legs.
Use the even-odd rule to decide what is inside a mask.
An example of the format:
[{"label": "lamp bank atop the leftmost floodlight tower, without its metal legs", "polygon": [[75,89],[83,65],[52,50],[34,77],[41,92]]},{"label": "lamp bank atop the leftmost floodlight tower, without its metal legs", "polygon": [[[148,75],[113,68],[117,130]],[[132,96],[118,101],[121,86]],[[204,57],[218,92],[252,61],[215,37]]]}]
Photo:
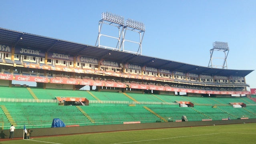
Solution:
[{"label": "lamp bank atop the leftmost floodlight tower, without its metal legs", "polygon": [[113,14],[111,12],[103,12],[101,14],[101,18],[103,20],[114,22],[114,23],[120,24],[120,25],[124,25],[124,23],[125,23],[125,19],[123,16],[119,16],[119,15]]}]

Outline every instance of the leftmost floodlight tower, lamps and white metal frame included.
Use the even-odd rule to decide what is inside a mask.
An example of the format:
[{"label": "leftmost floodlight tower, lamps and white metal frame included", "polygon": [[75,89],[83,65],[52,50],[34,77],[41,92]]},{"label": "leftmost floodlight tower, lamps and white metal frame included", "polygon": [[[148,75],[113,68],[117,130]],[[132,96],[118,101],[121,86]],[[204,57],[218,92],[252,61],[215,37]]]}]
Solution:
[{"label": "leftmost floodlight tower, lamps and white metal frame included", "polygon": [[[101,29],[102,29],[103,24],[117,27],[119,36],[114,37],[114,36],[109,36],[106,34],[101,34]],[[121,51],[121,33],[123,33],[123,27],[124,27],[124,17],[123,16],[119,16],[117,14],[112,14],[111,12],[103,12],[101,14],[101,20],[99,21],[99,34],[98,34],[95,46]],[[118,41],[117,46],[115,48],[111,48],[108,46],[102,46],[100,44],[101,36],[117,39],[117,41]]]}]

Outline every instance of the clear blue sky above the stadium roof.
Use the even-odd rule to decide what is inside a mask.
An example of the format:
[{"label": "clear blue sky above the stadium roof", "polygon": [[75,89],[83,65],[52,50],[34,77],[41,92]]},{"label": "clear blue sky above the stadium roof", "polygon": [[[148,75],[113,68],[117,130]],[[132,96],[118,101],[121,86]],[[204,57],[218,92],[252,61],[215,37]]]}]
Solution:
[{"label": "clear blue sky above the stadium roof", "polygon": [[145,56],[208,66],[212,43],[228,42],[228,69],[256,70],[255,0],[2,0],[0,27],[94,46],[102,12],[145,24]]}]

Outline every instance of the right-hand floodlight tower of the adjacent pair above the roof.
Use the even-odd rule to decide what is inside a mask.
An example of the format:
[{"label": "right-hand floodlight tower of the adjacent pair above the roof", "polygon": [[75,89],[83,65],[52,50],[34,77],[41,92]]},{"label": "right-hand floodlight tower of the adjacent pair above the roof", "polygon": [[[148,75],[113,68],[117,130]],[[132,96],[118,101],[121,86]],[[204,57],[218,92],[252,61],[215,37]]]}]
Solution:
[{"label": "right-hand floodlight tower of the adjacent pair above the roof", "polygon": [[[135,41],[132,41],[132,40],[125,39],[125,34],[126,34],[127,30],[131,30],[132,32],[138,32],[139,40],[137,42],[135,42]],[[121,42],[121,46],[123,46],[123,52],[131,52],[131,51],[125,50],[125,47],[124,47],[125,44],[124,43],[125,43],[125,41],[127,41],[127,42],[132,42],[132,43],[135,43],[135,44],[139,44],[139,48],[138,48],[137,52],[131,52],[131,53],[142,55],[141,42],[143,40],[144,33],[145,33],[145,25],[142,22],[138,22],[136,20],[132,20],[132,19],[129,19],[129,18],[127,20],[125,20],[123,40]]]}]

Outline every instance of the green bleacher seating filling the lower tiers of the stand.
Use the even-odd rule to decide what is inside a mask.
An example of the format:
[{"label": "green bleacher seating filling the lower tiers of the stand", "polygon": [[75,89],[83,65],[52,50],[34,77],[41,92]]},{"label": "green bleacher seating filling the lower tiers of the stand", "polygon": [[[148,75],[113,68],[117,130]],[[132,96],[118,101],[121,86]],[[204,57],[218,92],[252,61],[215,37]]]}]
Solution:
[{"label": "green bleacher seating filling the lower tiers of the stand", "polygon": [[[39,100],[53,102],[26,101],[34,99],[29,89]],[[67,126],[175,122],[183,115],[189,121],[256,118],[256,102],[246,97],[188,97],[3,86],[0,86],[0,91],[0,125],[3,129],[8,129],[11,123],[16,128],[24,125],[49,128],[53,118],[60,118]],[[60,106],[54,101],[55,97],[87,98],[89,106]],[[21,100],[17,102],[16,99]],[[134,105],[129,105],[133,101]],[[194,107],[179,107],[177,101],[191,102]],[[233,108],[232,102],[244,103],[246,107]]]}]

